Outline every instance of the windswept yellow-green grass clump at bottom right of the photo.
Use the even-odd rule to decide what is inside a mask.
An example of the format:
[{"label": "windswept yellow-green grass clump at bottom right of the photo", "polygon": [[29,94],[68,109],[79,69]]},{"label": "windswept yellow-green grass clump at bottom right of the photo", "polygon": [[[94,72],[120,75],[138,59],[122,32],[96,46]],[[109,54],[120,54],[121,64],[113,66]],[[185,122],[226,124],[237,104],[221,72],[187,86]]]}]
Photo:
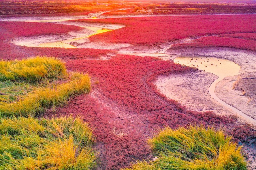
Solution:
[{"label": "windswept yellow-green grass clump at bottom right of the photo", "polygon": [[204,126],[165,128],[149,141],[154,162],[139,161],[126,170],[243,170],[247,169],[241,147],[222,130]]}]

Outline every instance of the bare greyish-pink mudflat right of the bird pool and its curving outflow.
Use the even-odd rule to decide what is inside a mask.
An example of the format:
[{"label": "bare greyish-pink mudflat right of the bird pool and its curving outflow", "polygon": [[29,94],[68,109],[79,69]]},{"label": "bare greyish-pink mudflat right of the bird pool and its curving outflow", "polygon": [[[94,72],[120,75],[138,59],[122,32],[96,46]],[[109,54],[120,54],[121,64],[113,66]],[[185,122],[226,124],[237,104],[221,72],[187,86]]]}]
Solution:
[{"label": "bare greyish-pink mudflat right of the bird pool and its curving outflow", "polygon": [[[249,103],[251,99],[248,95],[244,95],[244,92],[239,88],[234,88],[234,83],[254,75],[256,72],[256,54],[253,52],[238,50],[233,48],[187,48],[182,50],[172,50],[169,49],[168,53],[170,54],[179,54],[179,55],[200,55],[200,56],[211,56],[216,58],[228,59],[237,63],[241,69],[239,74],[232,77],[226,77],[216,85],[215,93],[216,95],[228,103],[229,105],[237,108],[238,110],[244,112],[246,115],[255,118],[256,110],[255,105]],[[254,91],[255,86],[253,86],[253,79],[250,79],[250,82],[247,81],[246,88]],[[244,82],[245,83],[245,82]],[[240,83],[240,86],[244,86]],[[253,92],[249,92],[252,95]]]}]

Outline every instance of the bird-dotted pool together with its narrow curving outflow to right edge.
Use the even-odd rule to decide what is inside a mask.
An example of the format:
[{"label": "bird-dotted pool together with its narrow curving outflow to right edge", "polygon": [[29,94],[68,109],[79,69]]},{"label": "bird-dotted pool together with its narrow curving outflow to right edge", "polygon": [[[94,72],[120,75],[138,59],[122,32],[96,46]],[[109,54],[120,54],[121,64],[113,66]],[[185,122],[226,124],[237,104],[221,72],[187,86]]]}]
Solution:
[{"label": "bird-dotted pool together with its narrow curving outflow to right edge", "polygon": [[246,118],[250,122],[256,123],[256,120],[250,116],[244,114],[237,108],[230,106],[224,101],[220,100],[215,93],[216,84],[223,80],[225,77],[235,76],[239,74],[240,66],[229,60],[214,58],[214,57],[177,57],[174,62],[180,65],[196,67],[200,70],[210,72],[218,76],[214,82],[211,83],[209,87],[210,97],[215,99],[220,104],[230,108],[240,116]]}]

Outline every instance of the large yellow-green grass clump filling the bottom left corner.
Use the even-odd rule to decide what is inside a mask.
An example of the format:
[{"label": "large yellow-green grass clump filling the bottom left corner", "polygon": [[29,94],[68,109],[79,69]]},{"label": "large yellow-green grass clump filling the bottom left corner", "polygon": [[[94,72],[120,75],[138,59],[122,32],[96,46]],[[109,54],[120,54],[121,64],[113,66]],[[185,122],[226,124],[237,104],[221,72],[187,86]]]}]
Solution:
[{"label": "large yellow-green grass clump filling the bottom left corner", "polygon": [[94,136],[80,118],[0,118],[0,169],[95,167]]}]

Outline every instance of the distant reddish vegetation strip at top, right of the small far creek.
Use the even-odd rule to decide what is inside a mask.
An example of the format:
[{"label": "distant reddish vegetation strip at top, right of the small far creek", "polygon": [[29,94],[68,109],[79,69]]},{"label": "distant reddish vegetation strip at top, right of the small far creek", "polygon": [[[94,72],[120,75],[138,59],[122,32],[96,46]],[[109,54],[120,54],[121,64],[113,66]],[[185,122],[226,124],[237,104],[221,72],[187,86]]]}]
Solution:
[{"label": "distant reddish vegetation strip at top, right of the small far creek", "polygon": [[252,14],[256,12],[254,4],[217,4],[217,3],[154,3],[135,8],[113,10],[102,15],[179,15],[179,14]]}]

